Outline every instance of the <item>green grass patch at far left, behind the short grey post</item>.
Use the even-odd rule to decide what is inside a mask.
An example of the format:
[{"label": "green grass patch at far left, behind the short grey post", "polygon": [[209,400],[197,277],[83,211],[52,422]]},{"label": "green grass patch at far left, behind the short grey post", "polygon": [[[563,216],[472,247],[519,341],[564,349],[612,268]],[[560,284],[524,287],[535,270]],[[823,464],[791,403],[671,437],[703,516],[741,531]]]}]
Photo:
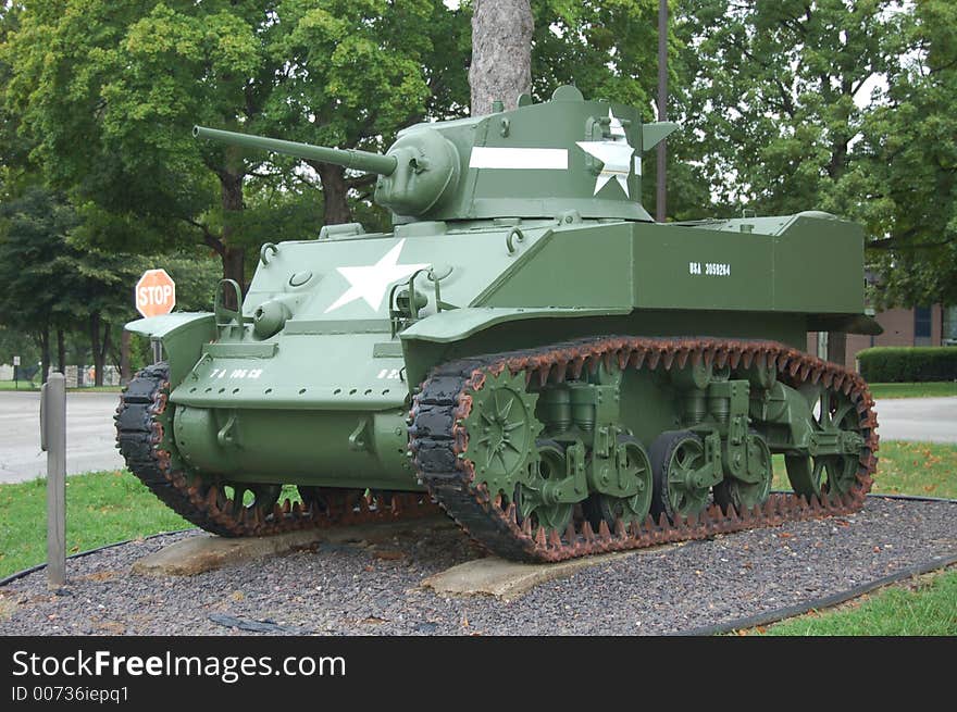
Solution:
[{"label": "green grass patch at far left, behind the short grey post", "polygon": [[[46,521],[45,479],[0,485],[0,577],[46,561]],[[190,526],[126,472],[66,478],[67,554]]]}]

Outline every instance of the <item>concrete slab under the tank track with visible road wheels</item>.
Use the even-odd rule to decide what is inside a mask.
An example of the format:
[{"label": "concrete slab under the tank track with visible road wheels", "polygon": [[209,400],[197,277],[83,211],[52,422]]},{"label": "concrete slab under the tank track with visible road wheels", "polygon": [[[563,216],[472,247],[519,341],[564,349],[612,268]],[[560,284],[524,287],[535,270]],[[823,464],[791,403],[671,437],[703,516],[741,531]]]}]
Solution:
[{"label": "concrete slab under the tank track with visible road wheels", "polygon": [[431,588],[436,594],[443,596],[492,596],[501,601],[513,601],[527,594],[538,584],[557,578],[568,578],[583,569],[598,566],[630,557],[660,553],[685,544],[687,542],[669,544],[636,551],[618,551],[597,557],[560,561],[554,564],[526,564],[506,561],[497,557],[488,557],[487,559],[467,561],[463,564],[433,574],[422,582],[422,586]]}]

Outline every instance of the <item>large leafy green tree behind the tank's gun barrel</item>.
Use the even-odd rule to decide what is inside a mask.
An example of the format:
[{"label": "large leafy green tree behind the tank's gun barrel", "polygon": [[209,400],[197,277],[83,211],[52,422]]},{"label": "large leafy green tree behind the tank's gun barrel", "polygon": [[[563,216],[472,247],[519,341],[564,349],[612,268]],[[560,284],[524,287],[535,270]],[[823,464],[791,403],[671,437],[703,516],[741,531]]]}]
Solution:
[{"label": "large leafy green tree behind the tank's gun barrel", "polygon": [[[0,61],[14,67],[7,105],[97,226],[91,245],[198,239],[244,284],[247,250],[275,237],[245,220],[247,182],[285,178],[266,155],[195,141],[191,126],[381,148],[433,108],[432,88],[451,98],[456,82],[423,66],[455,66],[432,60],[457,47],[461,17],[440,0],[36,0]],[[326,222],[348,220],[349,191],[370,179],[314,167]]]}]

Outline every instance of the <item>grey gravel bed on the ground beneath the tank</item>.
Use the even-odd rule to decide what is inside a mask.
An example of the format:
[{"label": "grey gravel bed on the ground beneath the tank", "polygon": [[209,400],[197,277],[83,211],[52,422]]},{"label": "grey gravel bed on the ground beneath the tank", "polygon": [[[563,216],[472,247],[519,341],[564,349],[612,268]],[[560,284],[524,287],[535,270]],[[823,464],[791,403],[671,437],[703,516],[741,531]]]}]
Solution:
[{"label": "grey gravel bed on the ground beneath the tank", "polygon": [[957,553],[957,504],[869,499],[854,516],[797,522],[647,550],[542,584],[505,603],[445,598],[426,576],[478,558],[453,525],[223,569],[134,575],[137,559],[192,533],[67,561],[65,589],[38,572],[0,588],[0,635],[236,635],[210,620],[326,635],[642,635],[736,620]]}]

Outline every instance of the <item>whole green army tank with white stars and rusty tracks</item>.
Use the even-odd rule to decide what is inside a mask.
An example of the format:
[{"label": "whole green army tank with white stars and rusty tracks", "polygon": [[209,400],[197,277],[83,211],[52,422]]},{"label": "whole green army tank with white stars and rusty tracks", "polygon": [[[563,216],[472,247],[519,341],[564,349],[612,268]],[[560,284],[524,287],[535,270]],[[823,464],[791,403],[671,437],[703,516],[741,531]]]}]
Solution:
[{"label": "whole green army tank with white stars and rusty tracks", "polygon": [[[526,561],[859,509],[873,400],[805,348],[880,333],[862,229],[655,223],[642,155],[674,128],[573,87],[385,155],[197,127],[377,174],[394,228],[277,236],[245,297],[223,280],[212,313],[129,323],[165,354],[117,409],[129,470],[224,536],[438,504]],[[775,454],[793,494],[771,491]]]}]

